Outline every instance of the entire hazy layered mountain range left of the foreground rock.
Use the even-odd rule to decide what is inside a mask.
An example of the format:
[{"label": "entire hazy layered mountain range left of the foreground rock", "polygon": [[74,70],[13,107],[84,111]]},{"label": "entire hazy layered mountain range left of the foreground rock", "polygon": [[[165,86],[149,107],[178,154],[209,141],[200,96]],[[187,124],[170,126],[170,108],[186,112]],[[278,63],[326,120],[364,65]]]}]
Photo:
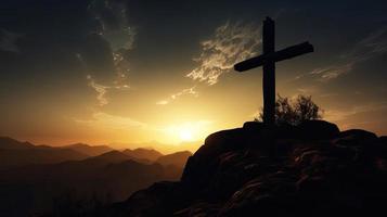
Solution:
[{"label": "entire hazy layered mountain range left of the foreground rock", "polygon": [[190,155],[82,143],[53,148],[1,137],[0,216],[52,213],[69,203],[121,201],[155,181],[178,180]]}]

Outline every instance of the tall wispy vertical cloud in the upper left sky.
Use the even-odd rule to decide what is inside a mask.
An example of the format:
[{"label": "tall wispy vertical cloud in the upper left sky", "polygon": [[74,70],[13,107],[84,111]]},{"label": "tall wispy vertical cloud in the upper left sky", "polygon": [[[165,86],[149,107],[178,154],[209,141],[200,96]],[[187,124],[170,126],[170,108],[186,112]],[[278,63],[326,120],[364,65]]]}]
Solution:
[{"label": "tall wispy vertical cloud in the upper left sky", "polygon": [[86,47],[76,56],[87,72],[88,86],[96,92],[99,105],[108,104],[111,89],[130,89],[130,63],[126,54],[133,48],[136,29],[128,25],[122,2],[95,0],[89,12],[96,28],[87,36]]}]

